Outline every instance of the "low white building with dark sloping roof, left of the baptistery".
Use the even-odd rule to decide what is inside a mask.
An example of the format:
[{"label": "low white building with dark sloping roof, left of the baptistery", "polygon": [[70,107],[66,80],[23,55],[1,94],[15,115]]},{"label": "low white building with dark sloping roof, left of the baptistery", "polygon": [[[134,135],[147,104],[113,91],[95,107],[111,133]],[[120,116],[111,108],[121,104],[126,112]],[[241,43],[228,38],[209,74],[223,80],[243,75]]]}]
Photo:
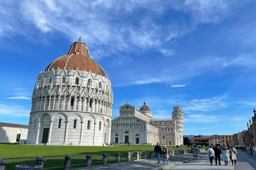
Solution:
[{"label": "low white building with dark sloping roof, left of the baptistery", "polygon": [[27,139],[28,125],[0,122],[0,143],[14,143]]}]

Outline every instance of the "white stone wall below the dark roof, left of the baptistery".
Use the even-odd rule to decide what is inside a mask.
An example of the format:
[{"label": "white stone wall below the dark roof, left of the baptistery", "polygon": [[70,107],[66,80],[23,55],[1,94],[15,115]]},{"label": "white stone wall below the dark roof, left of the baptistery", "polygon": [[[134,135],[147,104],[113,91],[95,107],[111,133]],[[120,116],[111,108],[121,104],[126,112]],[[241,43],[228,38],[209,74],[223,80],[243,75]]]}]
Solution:
[{"label": "white stone wall below the dark roof, left of the baptistery", "polygon": [[21,134],[20,139],[27,139],[28,129],[26,129],[26,128],[0,127],[0,143],[14,143],[14,142],[16,142],[17,134]]}]

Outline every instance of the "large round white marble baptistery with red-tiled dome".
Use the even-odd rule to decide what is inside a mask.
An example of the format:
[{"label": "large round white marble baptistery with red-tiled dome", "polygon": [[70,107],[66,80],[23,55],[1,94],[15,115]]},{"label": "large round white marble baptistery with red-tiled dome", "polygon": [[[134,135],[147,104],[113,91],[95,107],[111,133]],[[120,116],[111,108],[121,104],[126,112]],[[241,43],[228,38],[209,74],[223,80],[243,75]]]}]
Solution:
[{"label": "large round white marble baptistery with red-tiled dome", "polygon": [[112,106],[111,80],[80,37],[39,73],[26,144],[109,143]]}]

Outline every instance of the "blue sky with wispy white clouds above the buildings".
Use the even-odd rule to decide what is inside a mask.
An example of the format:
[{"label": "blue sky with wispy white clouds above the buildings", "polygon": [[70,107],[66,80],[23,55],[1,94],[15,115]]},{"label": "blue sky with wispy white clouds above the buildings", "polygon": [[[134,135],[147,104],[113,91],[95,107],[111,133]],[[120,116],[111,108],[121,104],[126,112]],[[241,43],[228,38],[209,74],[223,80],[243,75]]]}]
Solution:
[{"label": "blue sky with wispy white clouds above the buildings", "polygon": [[35,77],[82,37],[109,74],[112,117],[143,105],[184,134],[232,134],[256,107],[256,1],[0,2],[0,122],[28,125]]}]

